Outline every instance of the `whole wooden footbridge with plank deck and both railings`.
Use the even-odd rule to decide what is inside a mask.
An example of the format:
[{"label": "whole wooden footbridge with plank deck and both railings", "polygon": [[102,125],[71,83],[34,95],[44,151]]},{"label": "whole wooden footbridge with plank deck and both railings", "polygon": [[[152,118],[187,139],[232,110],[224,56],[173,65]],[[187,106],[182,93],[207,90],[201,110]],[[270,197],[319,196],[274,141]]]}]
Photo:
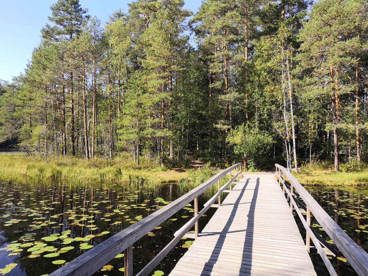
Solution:
[{"label": "whole wooden footbridge with plank deck and both railings", "polygon": [[[220,187],[220,179],[227,174],[229,181]],[[217,185],[217,193],[199,210],[198,196],[212,185]],[[229,192],[223,202],[220,201],[222,192]],[[276,174],[242,174],[239,163],[108,238],[50,276],[92,275],[123,251],[124,275],[132,276],[135,241],[193,201],[194,217],[136,275],[150,275],[184,236],[195,238],[195,242],[171,271],[173,276],[316,275],[309,252],[318,252],[330,274],[337,275],[327,255],[339,253],[310,227],[311,216],[325,229],[358,275],[368,275],[367,252],[347,236],[289,171],[276,164]],[[199,233],[198,219],[211,207],[218,209]],[[305,243],[293,213],[300,217],[307,231]],[[195,233],[188,233],[193,226]]]}]

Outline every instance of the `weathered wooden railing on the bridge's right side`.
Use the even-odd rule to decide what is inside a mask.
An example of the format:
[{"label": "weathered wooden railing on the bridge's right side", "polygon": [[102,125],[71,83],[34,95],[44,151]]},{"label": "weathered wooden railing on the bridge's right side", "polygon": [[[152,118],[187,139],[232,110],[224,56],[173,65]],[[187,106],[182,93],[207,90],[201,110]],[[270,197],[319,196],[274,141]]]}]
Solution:
[{"label": "weathered wooden railing on the bridge's right side", "polygon": [[[296,180],[296,178],[283,166],[275,164],[276,176],[279,179],[280,185],[282,184],[284,192],[290,198],[291,211],[295,209],[305,230],[307,230],[306,247],[308,252],[311,250],[310,240],[313,241],[316,250],[323,262],[325,263],[330,275],[336,275],[337,273],[329,261],[326,252],[329,254],[337,255],[338,252],[330,246],[319,234],[311,227],[311,213],[317,222],[326,231],[328,236],[335,243],[337,248],[342,252],[344,257],[353,266],[355,272],[358,275],[368,275],[368,254],[358,246],[354,241],[336,224],[336,222],[323,210],[323,208],[314,200],[314,198],[304,189],[304,187]],[[283,177],[281,176],[283,173]],[[287,180],[290,181],[290,184]],[[298,196],[304,201],[304,204],[298,200],[295,196]],[[302,210],[299,209],[302,208]],[[305,212],[302,212],[302,211]],[[304,218],[303,213],[307,216]],[[322,247],[323,245],[323,247]]]}]

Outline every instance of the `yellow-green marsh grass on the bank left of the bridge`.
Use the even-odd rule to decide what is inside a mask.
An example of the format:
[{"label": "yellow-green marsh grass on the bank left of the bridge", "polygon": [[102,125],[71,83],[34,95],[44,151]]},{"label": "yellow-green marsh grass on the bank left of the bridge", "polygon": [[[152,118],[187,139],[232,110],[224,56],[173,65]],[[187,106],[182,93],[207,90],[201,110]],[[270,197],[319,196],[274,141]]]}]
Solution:
[{"label": "yellow-green marsh grass on the bank left of the bridge", "polygon": [[22,153],[0,153],[0,178],[6,180],[56,180],[73,184],[144,181],[154,184],[181,181],[187,177],[186,170],[168,170],[147,160],[142,160],[138,167],[127,156],[87,161],[64,156],[45,159]]}]

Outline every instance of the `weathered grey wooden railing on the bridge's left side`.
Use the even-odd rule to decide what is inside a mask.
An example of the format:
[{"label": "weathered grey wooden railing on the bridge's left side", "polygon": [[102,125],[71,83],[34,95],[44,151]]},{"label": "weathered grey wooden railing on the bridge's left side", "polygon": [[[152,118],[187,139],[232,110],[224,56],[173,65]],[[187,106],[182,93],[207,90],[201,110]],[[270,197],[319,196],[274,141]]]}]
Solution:
[{"label": "weathered grey wooden railing on the bridge's left side", "polygon": [[[238,172],[238,169],[240,171]],[[231,172],[236,170],[235,176],[231,176]],[[229,181],[220,187],[220,179],[226,174],[229,174]],[[183,238],[187,232],[195,227],[194,237],[198,237],[198,219],[211,207],[212,204],[218,199],[218,206],[220,206],[220,195],[226,190],[226,188],[236,180],[241,174],[240,163],[235,164],[226,170],[211,177],[206,182],[202,183],[198,187],[194,188],[187,194],[176,199],[170,204],[157,210],[144,219],[132,224],[131,226],[121,230],[119,233],[108,238],[102,243],[96,245],[92,249],[88,250],[81,256],[75,258],[71,262],[62,266],[58,270],[50,274],[50,276],[89,276],[101,269],[103,265],[112,260],[116,255],[124,251],[124,275],[133,275],[133,244],[145,236],[148,232],[152,231],[155,227],[169,219],[185,205],[194,201],[194,217],[190,219],[183,227],[181,227],[174,234],[174,239],[170,241],[166,247],[156,255],[151,262],[149,262],[137,275],[145,276],[151,272],[152,269],[158,265],[158,263],[175,247],[175,245]],[[198,212],[198,196],[208,190],[213,184],[217,182],[217,193],[204,204],[204,208]]]}]

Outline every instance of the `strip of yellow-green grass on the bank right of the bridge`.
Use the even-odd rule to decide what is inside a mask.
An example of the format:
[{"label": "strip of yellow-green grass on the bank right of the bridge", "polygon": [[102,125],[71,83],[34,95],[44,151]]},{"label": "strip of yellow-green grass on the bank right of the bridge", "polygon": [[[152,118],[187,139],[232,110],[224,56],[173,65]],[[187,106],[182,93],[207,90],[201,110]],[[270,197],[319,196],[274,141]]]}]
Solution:
[{"label": "strip of yellow-green grass on the bank right of the bridge", "polygon": [[302,167],[293,175],[303,185],[315,186],[363,186],[368,184],[368,169],[356,171],[339,171],[320,167]]}]

